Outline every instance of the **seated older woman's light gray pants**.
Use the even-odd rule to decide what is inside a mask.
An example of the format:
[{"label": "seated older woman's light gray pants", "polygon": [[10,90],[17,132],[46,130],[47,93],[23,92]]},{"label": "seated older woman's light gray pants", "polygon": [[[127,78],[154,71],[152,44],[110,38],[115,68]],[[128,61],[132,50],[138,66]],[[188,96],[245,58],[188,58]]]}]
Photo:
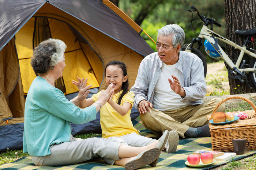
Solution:
[{"label": "seated older woman's light gray pants", "polygon": [[119,160],[118,149],[120,145],[128,145],[119,138],[89,138],[80,139],[70,138],[69,142],[50,146],[50,155],[44,157],[31,156],[36,166],[64,166],[72,165],[93,159],[103,158],[107,163],[113,165]]}]

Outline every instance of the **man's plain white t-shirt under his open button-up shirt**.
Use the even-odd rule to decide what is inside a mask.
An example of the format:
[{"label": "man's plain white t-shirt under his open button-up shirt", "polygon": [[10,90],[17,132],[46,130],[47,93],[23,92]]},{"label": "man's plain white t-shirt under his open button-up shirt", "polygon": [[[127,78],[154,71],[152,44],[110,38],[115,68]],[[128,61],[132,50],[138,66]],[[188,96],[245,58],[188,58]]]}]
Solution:
[{"label": "man's plain white t-shirt under his open button-up shirt", "polygon": [[172,79],[172,75],[176,76],[179,82],[183,82],[182,72],[176,68],[177,63],[167,65],[163,63],[161,74],[155,84],[153,107],[159,111],[174,110],[177,108],[190,106],[188,102],[181,102],[181,96],[176,94],[170,87],[168,78]]}]

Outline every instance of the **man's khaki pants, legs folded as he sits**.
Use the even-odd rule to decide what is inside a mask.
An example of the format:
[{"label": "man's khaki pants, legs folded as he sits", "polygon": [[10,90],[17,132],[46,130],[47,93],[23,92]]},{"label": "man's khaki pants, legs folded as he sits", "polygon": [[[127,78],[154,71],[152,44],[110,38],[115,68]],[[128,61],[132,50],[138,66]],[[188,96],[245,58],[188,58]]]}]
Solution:
[{"label": "man's khaki pants, legs folded as he sits", "polygon": [[[203,104],[164,112],[152,108],[150,112],[140,114],[140,119],[144,127],[158,136],[162,135],[162,131],[175,130],[184,138],[184,133],[189,127],[201,127],[208,123],[206,116],[211,115],[214,107],[221,100],[221,98],[213,98]],[[224,111],[225,103],[218,107],[217,112]]]}]

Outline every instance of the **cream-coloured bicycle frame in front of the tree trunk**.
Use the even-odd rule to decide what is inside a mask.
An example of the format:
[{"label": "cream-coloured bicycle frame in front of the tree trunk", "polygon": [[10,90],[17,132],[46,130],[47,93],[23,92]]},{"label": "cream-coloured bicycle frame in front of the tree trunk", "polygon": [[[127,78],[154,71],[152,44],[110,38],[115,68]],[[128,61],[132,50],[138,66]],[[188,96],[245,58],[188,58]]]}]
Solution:
[{"label": "cream-coloured bicycle frame in front of the tree trunk", "polygon": [[[211,29],[207,28],[206,25],[203,25],[198,37],[201,40],[203,38],[207,39],[211,43],[211,45],[215,48],[215,50],[218,51],[221,58],[227,63],[227,65],[229,65],[230,68],[233,69],[234,67],[236,67],[240,72],[245,71],[246,73],[251,72],[251,71],[252,72],[256,71],[256,69],[253,69],[253,68],[239,68],[239,66],[241,64],[241,61],[242,61],[242,58],[244,56],[244,53],[256,58],[256,54],[247,50],[246,46],[241,47],[241,46],[235,44],[234,42],[224,38],[223,36],[215,33]],[[240,50],[240,54],[238,56],[236,64],[233,63],[233,61],[229,58],[229,56],[226,54],[226,52],[221,48],[217,39],[225,42],[226,44],[229,44],[230,46],[233,46],[234,48],[237,48],[238,50]],[[189,47],[190,47],[190,44],[187,46],[185,51],[191,52],[191,50],[188,49]]]}]

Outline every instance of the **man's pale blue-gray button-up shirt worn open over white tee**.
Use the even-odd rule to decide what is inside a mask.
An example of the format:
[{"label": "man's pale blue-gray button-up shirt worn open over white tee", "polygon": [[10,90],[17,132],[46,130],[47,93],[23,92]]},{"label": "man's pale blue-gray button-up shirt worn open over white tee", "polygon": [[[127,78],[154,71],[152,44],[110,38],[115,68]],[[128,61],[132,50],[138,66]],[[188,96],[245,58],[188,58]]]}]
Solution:
[{"label": "man's pale blue-gray button-up shirt worn open over white tee", "polygon": [[[138,109],[141,100],[153,102],[154,88],[160,77],[162,66],[163,63],[157,52],[146,56],[140,63],[135,84],[130,90],[135,94],[133,105],[135,108]],[[186,93],[186,96],[181,98],[181,102],[188,101],[191,105],[202,104],[206,94],[202,60],[191,52],[180,51],[176,68],[182,72],[184,81],[180,84]]]}]

